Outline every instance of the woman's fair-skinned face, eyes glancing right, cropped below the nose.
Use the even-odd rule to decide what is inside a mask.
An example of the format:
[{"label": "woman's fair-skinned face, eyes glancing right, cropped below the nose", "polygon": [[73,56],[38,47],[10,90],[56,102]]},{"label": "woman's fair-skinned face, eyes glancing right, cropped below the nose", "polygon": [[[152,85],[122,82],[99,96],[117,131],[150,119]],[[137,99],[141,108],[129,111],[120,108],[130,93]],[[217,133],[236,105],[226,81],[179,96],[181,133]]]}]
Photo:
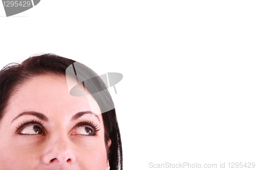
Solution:
[{"label": "woman's fair-skinned face, eyes glancing right, cropped below the nose", "polygon": [[90,96],[69,94],[64,76],[33,77],[1,120],[0,169],[110,169],[99,113]]}]

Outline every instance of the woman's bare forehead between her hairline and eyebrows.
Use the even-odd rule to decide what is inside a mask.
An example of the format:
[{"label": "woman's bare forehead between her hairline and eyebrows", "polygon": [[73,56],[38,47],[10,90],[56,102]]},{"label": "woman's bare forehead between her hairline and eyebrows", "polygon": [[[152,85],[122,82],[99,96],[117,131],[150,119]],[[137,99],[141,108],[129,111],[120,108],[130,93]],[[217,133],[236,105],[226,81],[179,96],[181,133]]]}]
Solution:
[{"label": "woman's bare forehead between her hairline and eyebrows", "polygon": [[101,113],[92,95],[70,95],[66,77],[57,75],[36,76],[24,82],[10,98],[7,111],[13,110],[54,113],[59,116],[79,111]]}]

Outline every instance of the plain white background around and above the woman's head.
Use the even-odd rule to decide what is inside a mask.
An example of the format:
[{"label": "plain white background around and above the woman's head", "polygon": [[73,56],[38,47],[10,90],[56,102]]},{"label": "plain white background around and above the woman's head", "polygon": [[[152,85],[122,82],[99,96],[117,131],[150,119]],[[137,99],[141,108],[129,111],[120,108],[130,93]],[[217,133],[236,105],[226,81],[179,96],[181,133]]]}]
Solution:
[{"label": "plain white background around and above the woman's head", "polygon": [[41,0],[12,17],[0,5],[0,66],[54,53],[123,74],[110,90],[125,170],[255,162],[255,5]]}]

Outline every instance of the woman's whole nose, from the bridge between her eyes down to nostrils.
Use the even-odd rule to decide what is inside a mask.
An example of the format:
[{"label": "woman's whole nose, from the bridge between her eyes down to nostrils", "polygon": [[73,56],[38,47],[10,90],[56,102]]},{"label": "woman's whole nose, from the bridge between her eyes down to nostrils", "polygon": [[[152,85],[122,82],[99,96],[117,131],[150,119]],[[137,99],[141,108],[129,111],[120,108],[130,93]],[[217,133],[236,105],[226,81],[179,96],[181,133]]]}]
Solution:
[{"label": "woman's whole nose, from the bridge between her eyes down to nostrils", "polygon": [[75,156],[72,152],[67,135],[60,132],[52,134],[51,139],[47,143],[43,161],[46,164],[72,163],[75,161]]}]

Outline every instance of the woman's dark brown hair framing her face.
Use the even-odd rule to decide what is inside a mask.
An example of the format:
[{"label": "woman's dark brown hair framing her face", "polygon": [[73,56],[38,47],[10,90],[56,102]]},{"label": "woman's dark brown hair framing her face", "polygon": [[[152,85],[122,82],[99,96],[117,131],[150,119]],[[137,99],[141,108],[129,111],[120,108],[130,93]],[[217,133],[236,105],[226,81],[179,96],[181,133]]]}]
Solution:
[{"label": "woman's dark brown hair framing her face", "polygon": [[[21,64],[7,64],[0,71],[0,123],[5,114],[10,96],[22,85],[26,80],[39,75],[54,74],[66,76],[66,69],[73,64],[74,60],[60,57],[54,54],[42,54],[28,58]],[[101,110],[113,105],[111,95],[106,89],[104,82],[89,67],[79,63],[79,75],[83,75],[83,80],[96,77],[92,81],[86,81],[84,86],[92,93],[94,99],[98,103]],[[102,91],[97,93],[97,91]],[[111,108],[114,108],[111,106]],[[111,139],[110,148],[107,149],[108,159],[111,170],[122,170],[122,143],[120,138],[119,127],[116,118],[116,111],[102,113],[104,122],[104,140],[105,146],[108,148],[108,141]]]}]

